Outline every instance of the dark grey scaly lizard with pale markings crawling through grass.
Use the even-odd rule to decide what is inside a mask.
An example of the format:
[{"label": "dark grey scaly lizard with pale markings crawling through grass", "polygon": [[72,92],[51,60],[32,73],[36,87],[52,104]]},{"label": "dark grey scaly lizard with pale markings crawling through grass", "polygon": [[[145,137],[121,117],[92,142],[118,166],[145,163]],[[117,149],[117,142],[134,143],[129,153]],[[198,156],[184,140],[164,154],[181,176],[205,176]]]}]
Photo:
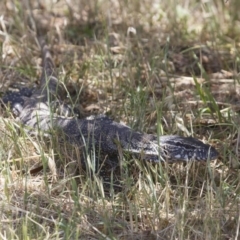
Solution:
[{"label": "dark grey scaly lizard with pale markings crawling through grass", "polygon": [[217,158],[218,153],[213,147],[192,137],[158,137],[140,133],[104,115],[78,119],[52,113],[51,102],[56,100],[61,86],[49,49],[44,41],[39,42],[43,55],[40,88],[21,101],[18,118],[23,125],[42,131],[61,129],[62,137],[68,142],[87,151],[94,149],[101,156],[108,156],[113,165],[118,164],[119,151],[154,162],[206,161]]}]

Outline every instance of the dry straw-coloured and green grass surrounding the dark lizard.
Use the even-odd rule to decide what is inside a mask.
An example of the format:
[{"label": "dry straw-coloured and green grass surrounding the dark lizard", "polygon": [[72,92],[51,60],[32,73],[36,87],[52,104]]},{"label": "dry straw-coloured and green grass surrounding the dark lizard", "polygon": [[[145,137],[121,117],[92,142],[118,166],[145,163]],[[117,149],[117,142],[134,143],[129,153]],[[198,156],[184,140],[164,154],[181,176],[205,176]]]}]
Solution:
[{"label": "dry straw-coloured and green grass surrounding the dark lizard", "polygon": [[97,176],[75,175],[76,149],[29,136],[1,109],[0,238],[239,239],[239,5],[2,1],[2,94],[39,78],[32,14],[47,30],[68,101],[84,115],[192,135],[220,157],[159,166],[134,160],[123,190],[106,193]]}]

